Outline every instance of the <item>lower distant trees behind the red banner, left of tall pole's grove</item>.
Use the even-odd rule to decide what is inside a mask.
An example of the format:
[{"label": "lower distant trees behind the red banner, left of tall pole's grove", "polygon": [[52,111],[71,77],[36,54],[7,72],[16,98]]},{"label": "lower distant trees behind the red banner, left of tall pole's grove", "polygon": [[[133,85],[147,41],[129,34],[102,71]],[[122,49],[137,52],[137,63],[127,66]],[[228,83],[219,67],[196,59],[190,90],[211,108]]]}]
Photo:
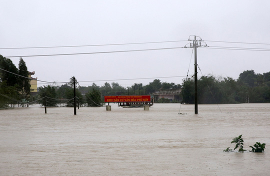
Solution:
[{"label": "lower distant trees behind the red banner, left of tall pole's grove", "polygon": [[[117,82],[105,82],[102,86],[97,86],[95,83],[92,83],[90,86],[78,85],[79,84],[76,84],[76,97],[78,102],[77,105],[79,106],[100,106],[103,104],[105,95],[144,95],[152,94],[155,91],[163,89],[181,88],[180,84],[161,82],[159,79],[154,79],[147,85],[134,83],[129,87],[123,87]],[[60,86],[44,85],[38,87],[36,99],[45,96],[47,98],[43,98],[40,101],[42,105],[56,106],[59,103],[70,100],[65,102],[65,104],[66,106],[73,106],[73,77],[70,78],[69,83]],[[162,100],[161,102],[169,102],[169,100],[166,100]]]}]

